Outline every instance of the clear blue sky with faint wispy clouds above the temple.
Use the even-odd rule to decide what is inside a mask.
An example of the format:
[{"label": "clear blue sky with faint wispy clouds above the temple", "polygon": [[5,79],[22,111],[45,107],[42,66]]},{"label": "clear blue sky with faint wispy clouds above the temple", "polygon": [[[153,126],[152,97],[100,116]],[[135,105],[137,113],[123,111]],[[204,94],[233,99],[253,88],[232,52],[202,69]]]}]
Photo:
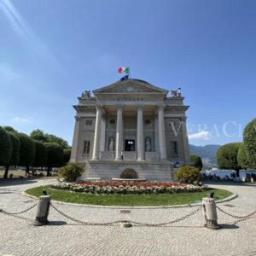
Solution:
[{"label": "clear blue sky with faint wispy clouds above the temple", "polygon": [[189,143],[230,143],[255,118],[255,1],[0,0],[0,125],[72,143],[84,90],[131,76],[181,86]]}]

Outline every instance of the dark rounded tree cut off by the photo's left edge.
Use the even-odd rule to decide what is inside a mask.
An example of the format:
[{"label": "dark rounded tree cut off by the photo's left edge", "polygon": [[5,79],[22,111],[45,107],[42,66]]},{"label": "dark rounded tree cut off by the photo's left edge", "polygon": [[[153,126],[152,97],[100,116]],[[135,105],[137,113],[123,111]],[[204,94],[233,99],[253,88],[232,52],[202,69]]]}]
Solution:
[{"label": "dark rounded tree cut off by the photo's left edge", "polygon": [[0,165],[6,166],[9,164],[12,151],[13,147],[9,132],[0,126]]}]

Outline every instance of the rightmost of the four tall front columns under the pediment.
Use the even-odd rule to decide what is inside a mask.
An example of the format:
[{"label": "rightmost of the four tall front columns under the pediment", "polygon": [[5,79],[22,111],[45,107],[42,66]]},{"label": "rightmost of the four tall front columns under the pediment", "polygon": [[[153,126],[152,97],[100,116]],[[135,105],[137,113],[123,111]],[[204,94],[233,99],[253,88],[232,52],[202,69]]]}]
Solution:
[{"label": "rightmost of the four tall front columns under the pediment", "polygon": [[159,106],[158,108],[158,127],[160,160],[166,160],[166,132],[163,106]]}]

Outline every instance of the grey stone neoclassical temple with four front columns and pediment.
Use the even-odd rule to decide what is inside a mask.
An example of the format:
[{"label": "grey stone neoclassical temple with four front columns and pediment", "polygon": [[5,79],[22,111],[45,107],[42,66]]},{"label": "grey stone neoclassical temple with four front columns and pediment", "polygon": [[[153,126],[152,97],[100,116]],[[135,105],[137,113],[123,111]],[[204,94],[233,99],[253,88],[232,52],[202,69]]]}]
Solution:
[{"label": "grey stone neoclassical temple with four front columns and pediment", "polygon": [[189,142],[180,90],[126,79],[85,91],[77,111],[71,162],[88,177],[172,180],[173,164],[189,164]]}]

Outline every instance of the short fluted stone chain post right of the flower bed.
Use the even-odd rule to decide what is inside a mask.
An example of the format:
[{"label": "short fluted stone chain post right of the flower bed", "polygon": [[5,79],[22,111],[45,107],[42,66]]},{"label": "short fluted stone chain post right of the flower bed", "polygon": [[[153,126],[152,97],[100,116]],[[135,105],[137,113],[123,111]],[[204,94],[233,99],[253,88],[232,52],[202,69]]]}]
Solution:
[{"label": "short fluted stone chain post right of the flower bed", "polygon": [[219,226],[217,223],[217,211],[216,211],[216,205],[213,198],[207,198],[204,197],[202,199],[202,206],[204,209],[204,215],[206,219],[205,227],[218,230]]}]

